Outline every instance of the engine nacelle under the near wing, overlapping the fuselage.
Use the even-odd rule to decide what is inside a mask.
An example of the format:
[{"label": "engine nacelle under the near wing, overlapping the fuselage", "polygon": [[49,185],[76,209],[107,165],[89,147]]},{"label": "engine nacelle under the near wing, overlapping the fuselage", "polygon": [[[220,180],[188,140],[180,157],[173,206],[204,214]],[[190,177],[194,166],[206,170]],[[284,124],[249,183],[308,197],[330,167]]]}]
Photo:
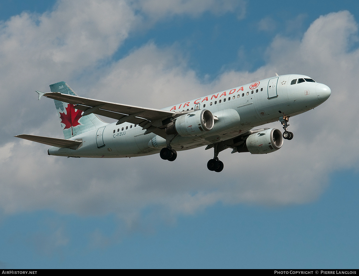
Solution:
[{"label": "engine nacelle under the near wing, overlapping the fuselage", "polygon": [[197,136],[210,131],[213,125],[213,114],[207,109],[202,109],[178,117],[172,126],[166,128],[166,133]]}]

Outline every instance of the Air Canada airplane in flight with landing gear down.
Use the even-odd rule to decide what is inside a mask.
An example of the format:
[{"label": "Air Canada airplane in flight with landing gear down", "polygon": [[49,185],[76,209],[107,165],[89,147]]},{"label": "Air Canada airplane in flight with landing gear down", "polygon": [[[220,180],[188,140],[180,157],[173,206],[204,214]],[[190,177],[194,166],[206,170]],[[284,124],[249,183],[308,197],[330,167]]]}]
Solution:
[{"label": "Air Canada airplane in flight with landing gear down", "polygon": [[[174,161],[177,151],[206,146],[214,157],[210,171],[221,172],[219,152],[267,154],[292,140],[289,117],[309,111],[327,100],[330,88],[305,75],[278,75],[222,92],[198,97],[163,109],[104,102],[79,97],[64,82],[38,93],[55,101],[65,139],[17,135],[50,145],[48,155],[89,158],[126,158],[159,153]],[[106,123],[97,115],[116,119]],[[280,121],[276,128],[253,128]]]}]

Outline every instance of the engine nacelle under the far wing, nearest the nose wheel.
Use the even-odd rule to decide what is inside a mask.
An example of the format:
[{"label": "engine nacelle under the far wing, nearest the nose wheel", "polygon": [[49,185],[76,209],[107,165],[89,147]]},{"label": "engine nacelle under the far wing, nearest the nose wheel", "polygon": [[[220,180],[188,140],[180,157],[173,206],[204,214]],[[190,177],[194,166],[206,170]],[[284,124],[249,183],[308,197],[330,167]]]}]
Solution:
[{"label": "engine nacelle under the far wing, nearest the nose wheel", "polygon": [[270,128],[248,136],[246,146],[251,154],[272,153],[283,145],[283,136],[280,130]]}]

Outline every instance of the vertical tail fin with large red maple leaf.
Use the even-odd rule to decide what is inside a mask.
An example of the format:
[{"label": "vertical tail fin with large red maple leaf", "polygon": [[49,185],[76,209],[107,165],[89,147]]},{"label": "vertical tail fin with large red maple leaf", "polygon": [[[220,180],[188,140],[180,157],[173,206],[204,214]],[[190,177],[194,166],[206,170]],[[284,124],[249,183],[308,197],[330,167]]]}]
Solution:
[{"label": "vertical tail fin with large red maple leaf", "polygon": [[[51,84],[50,90],[51,92],[77,96],[74,90],[72,90],[65,81]],[[106,125],[106,123],[95,114],[82,116],[82,111],[75,109],[73,104],[61,102],[59,100],[54,101],[65,139]]]}]

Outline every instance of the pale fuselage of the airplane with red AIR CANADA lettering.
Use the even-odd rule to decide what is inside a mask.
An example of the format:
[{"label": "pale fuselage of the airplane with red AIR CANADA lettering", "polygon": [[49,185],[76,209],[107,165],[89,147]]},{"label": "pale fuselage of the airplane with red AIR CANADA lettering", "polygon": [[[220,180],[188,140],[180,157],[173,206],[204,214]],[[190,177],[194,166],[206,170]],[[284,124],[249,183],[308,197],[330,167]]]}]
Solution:
[{"label": "pale fuselage of the airplane with red AIR CANADA lettering", "polygon": [[[295,81],[294,81],[295,80]],[[171,141],[175,150],[193,149],[234,138],[253,127],[275,122],[282,116],[295,116],[319,106],[330,96],[325,84],[304,75],[268,78],[163,108],[169,111],[208,109],[218,118],[212,130],[198,136],[177,135]],[[109,123],[71,137],[82,140],[78,149],[51,147],[50,155],[118,158],[159,153],[166,140],[131,123]]]}]

